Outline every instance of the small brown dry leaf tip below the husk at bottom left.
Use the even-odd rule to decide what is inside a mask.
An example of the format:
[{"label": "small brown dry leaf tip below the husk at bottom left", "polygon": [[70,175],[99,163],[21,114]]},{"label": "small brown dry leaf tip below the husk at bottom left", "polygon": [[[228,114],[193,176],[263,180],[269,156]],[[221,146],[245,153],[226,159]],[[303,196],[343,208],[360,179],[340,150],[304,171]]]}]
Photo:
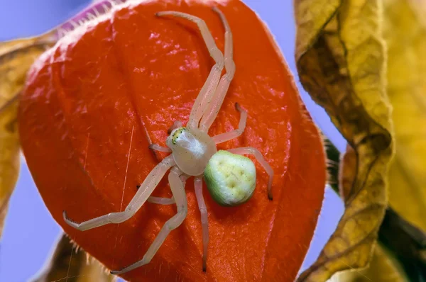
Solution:
[{"label": "small brown dry leaf tip below the husk at bottom left", "polygon": [[115,276],[109,274],[99,261],[89,258],[82,249],[77,249],[66,235],[62,235],[55,247],[49,264],[33,279],[33,282],[111,282]]}]

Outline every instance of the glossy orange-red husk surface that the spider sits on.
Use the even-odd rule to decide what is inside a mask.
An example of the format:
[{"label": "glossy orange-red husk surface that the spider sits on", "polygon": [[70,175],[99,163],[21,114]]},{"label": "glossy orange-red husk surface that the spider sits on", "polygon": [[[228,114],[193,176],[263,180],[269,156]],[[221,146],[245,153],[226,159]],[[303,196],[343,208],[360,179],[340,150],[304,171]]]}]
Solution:
[{"label": "glossy orange-red husk surface that the spider sits on", "polygon": [[[18,116],[35,184],[65,232],[109,269],[140,260],[175,205],[146,203],[126,222],[85,232],[65,224],[62,210],[77,222],[124,210],[165,157],[148,145],[164,146],[173,121],[187,122],[214,61],[195,24],[154,14],[203,18],[223,50],[215,5],[234,34],[236,74],[209,135],[237,127],[236,102],[246,108],[244,134],[218,149],[260,150],[275,172],[274,198],[268,200],[268,176],[256,162],[256,191],[244,205],[222,207],[204,186],[210,237],[204,273],[190,179],[187,218],[150,264],[123,275],[129,281],[294,281],[317,223],[326,181],[320,134],[271,34],[236,0],[131,1],[45,52],[28,74]],[[166,179],[153,196],[172,196]]]}]

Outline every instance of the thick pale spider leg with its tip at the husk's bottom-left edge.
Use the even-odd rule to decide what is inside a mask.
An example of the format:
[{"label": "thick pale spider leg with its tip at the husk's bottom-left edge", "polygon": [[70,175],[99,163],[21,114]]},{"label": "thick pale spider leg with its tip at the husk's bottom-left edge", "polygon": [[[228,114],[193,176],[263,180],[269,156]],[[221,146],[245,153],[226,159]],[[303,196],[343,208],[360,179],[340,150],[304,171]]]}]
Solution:
[{"label": "thick pale spider leg with its tip at the husk's bottom-left edge", "polygon": [[185,220],[187,216],[187,198],[185,193],[185,187],[182,184],[182,180],[179,178],[181,174],[182,171],[180,171],[178,167],[173,167],[168,176],[170,188],[172,189],[173,197],[175,198],[176,205],[178,207],[178,213],[176,213],[173,218],[170,218],[170,220],[165,222],[165,225],[163,225],[157,237],[154,239],[154,242],[148,248],[148,251],[140,261],[137,261],[136,263],[131,264],[130,266],[125,267],[124,269],[121,269],[120,271],[111,271],[112,274],[125,273],[127,271],[131,271],[140,266],[148,264],[160,248],[161,244],[163,244],[165,238],[169,235],[170,231],[174,230],[175,228],[178,228],[183,222],[183,220]]}]

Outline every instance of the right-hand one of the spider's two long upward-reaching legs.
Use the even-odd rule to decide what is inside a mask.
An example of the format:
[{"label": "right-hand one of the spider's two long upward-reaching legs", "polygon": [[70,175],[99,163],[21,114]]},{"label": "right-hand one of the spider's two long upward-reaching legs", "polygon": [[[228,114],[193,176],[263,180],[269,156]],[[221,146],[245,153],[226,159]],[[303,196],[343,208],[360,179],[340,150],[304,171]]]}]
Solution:
[{"label": "right-hand one of the spider's two long upward-reaching legs", "polygon": [[214,122],[214,119],[217,117],[217,113],[219,113],[220,107],[222,106],[222,103],[224,101],[224,98],[226,96],[226,92],[229,89],[229,85],[231,84],[232,79],[234,78],[235,74],[235,63],[234,63],[234,51],[233,48],[233,41],[232,41],[232,33],[231,28],[229,27],[228,21],[226,21],[226,18],[222,11],[220,11],[217,8],[213,8],[213,10],[219,14],[222,23],[225,27],[225,69],[226,74],[220,79],[219,85],[217,86],[216,91],[214,92],[214,97],[212,98],[212,101],[210,101],[208,108],[206,109],[206,112],[202,116],[201,122],[200,122],[200,130],[207,132],[209,131],[210,126],[212,126],[212,123]]}]

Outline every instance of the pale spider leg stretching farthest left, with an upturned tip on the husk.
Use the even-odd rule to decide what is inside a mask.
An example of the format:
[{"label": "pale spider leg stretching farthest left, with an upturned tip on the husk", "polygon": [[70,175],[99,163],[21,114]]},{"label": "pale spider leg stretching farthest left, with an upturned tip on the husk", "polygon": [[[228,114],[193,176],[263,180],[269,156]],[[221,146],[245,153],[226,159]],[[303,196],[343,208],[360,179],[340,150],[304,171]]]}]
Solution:
[{"label": "pale spider leg stretching farthest left, with an upturned tip on the husk", "polygon": [[99,227],[102,225],[107,225],[109,223],[120,223],[131,218],[136,211],[138,211],[143,203],[146,202],[148,197],[153,193],[155,186],[157,186],[158,182],[163,178],[164,174],[175,165],[175,161],[173,160],[173,156],[165,157],[160,164],[157,164],[156,167],[146,176],[146,179],[141,184],[141,188],[138,189],[136,195],[130,201],[129,205],[127,205],[126,210],[119,213],[109,213],[107,215],[102,215],[99,218],[92,218],[91,220],[87,220],[81,223],[74,222],[67,218],[67,213],[64,210],[63,218],[65,222],[78,229],[78,230],[89,230],[94,227]]}]

